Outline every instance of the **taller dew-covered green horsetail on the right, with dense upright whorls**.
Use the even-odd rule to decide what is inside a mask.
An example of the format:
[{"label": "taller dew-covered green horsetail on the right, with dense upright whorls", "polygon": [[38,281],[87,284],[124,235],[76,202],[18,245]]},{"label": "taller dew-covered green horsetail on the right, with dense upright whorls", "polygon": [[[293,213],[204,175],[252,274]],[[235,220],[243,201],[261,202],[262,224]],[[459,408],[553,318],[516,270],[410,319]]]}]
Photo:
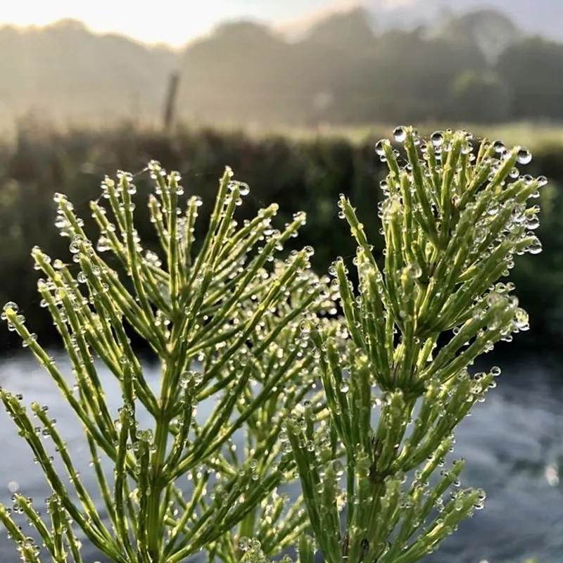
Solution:
[{"label": "taller dew-covered green horsetail on the right, with dense upright whorls", "polygon": [[417,562],[483,507],[483,491],[457,488],[463,460],[440,468],[455,427],[500,374],[498,367],[470,374],[469,367],[529,328],[514,286],[499,279],[514,255],[541,250],[529,230],[539,208],[526,202],[545,178],[519,177],[516,165],[531,160],[526,149],[485,140],[475,154],[463,131],[436,132],[426,144],[411,127],[394,135],[405,155],[389,141],[376,146],[389,170],[379,205],[384,263],[341,196],[340,216],[358,243],[357,291],[343,260],[330,273],[350,336],[342,341],[332,327],[311,331],[329,434],[343,445],[344,464],[327,445],[306,448],[317,426],[312,410],[303,424],[286,424],[311,530],[329,563]]}]

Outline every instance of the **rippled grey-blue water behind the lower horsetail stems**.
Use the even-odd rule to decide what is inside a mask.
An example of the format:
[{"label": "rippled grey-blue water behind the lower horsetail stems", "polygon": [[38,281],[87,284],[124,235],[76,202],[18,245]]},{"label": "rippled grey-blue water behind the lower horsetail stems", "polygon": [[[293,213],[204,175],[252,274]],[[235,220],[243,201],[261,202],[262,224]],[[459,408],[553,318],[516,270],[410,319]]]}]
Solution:
[{"label": "rippled grey-blue water behind the lower horsetail stems", "polygon": [[[485,403],[464,420],[456,434],[456,457],[464,457],[464,486],[483,487],[486,510],[465,521],[431,563],[521,563],[537,557],[540,563],[560,563],[563,554],[563,368],[557,363],[529,361],[508,366]],[[63,360],[58,362],[61,369]],[[67,369],[67,371],[70,371]],[[158,385],[158,372],[146,367],[146,376]],[[108,372],[99,369],[113,412],[120,406],[120,390]],[[89,467],[89,452],[80,424],[65,405],[49,376],[29,355],[0,360],[0,386],[23,393],[25,403],[49,405],[58,429],[68,442],[75,465],[94,495],[96,483]],[[210,404],[200,405],[205,419]],[[141,417],[141,426],[150,420]],[[11,505],[8,486],[32,497],[42,510],[49,495],[39,467],[33,464],[27,444],[21,441],[4,410],[0,412],[0,502]],[[562,469],[563,473],[563,469]],[[97,499],[96,499],[97,500]],[[101,507],[101,505],[100,505]],[[103,510],[101,511],[103,513]],[[105,562],[84,544],[84,562]],[[17,555],[6,531],[0,529],[0,563]]]}]

